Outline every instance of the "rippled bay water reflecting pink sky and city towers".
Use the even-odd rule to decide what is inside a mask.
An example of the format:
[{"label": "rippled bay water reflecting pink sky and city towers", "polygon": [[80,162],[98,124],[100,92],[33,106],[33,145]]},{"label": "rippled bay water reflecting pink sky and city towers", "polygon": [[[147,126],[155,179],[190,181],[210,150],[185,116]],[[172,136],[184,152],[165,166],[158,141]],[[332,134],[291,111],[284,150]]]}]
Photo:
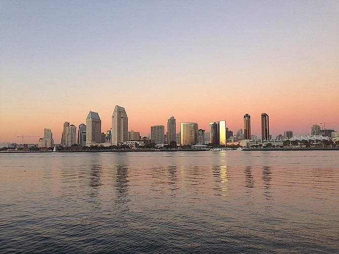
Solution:
[{"label": "rippled bay water reflecting pink sky and city towers", "polygon": [[339,252],[338,151],[0,154],[0,252]]}]

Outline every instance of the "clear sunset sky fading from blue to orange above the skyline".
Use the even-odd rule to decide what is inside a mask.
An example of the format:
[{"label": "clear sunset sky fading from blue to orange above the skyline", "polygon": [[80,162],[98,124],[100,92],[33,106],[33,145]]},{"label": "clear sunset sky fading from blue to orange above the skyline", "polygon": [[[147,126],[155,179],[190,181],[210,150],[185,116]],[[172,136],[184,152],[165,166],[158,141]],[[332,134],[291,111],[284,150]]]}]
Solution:
[{"label": "clear sunset sky fading from blue to orange above the skyline", "polygon": [[[175,116],[225,119],[234,133],[251,115],[270,133],[339,129],[339,1],[0,0],[0,142],[19,135],[60,143],[63,122],[115,105],[129,130]],[[25,143],[37,143],[26,138]]]}]

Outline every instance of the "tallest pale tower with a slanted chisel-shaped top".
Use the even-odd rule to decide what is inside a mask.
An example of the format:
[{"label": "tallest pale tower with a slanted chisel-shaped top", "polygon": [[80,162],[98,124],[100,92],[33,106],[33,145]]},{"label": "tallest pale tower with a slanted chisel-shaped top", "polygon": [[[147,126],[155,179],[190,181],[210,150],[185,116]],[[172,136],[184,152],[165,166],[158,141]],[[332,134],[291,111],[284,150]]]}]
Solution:
[{"label": "tallest pale tower with a slanted chisel-shaped top", "polygon": [[123,107],[115,106],[112,114],[112,144],[117,145],[128,141],[129,118]]}]

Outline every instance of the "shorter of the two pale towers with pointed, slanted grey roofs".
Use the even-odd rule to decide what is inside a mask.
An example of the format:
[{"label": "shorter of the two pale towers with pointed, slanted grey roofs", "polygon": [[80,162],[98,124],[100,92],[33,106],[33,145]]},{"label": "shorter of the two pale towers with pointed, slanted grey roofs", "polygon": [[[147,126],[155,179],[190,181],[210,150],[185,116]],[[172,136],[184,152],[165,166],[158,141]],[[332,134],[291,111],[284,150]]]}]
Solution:
[{"label": "shorter of the two pale towers with pointed, slanted grey roofs", "polygon": [[97,112],[90,111],[86,118],[86,145],[101,143],[101,119]]}]

